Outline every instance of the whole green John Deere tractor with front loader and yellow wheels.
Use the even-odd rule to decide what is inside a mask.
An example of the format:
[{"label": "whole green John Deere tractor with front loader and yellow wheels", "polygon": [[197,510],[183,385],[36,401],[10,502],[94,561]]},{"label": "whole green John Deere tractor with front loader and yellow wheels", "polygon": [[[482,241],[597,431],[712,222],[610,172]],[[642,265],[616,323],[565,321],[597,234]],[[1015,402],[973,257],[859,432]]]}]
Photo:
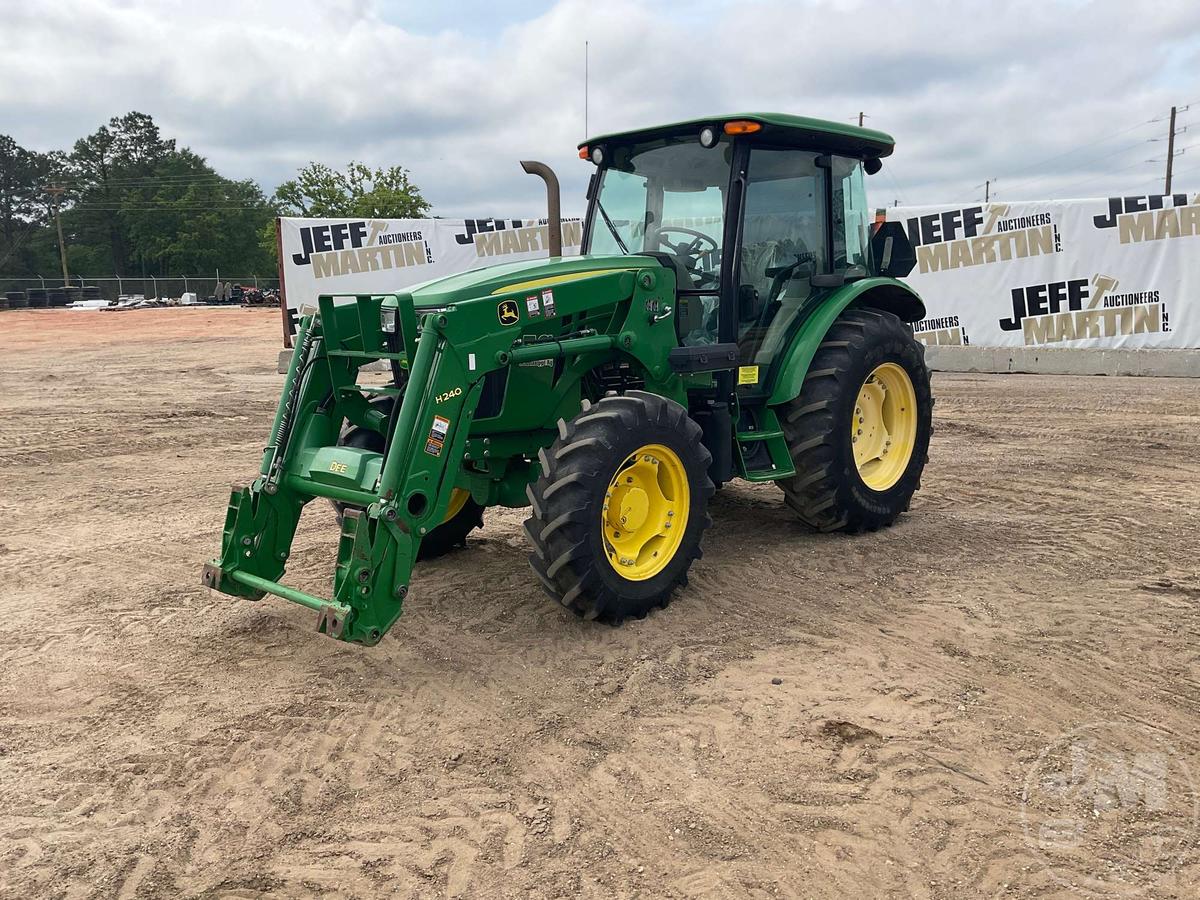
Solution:
[{"label": "whole green John Deere tractor with front loader and yellow wheels", "polygon": [[[864,175],[889,136],[779,114],[588,140],[582,254],[388,295],[320,296],[301,320],[259,476],[229,500],[204,583],[319,613],[374,644],[414,565],[488,506],[529,506],[546,592],[620,622],[686,583],[733,478],[774,481],[805,524],[875,530],[920,482],[932,398],[898,277],[904,232],[874,228]],[[383,361],[390,377],[364,373]],[[284,586],[305,505],[341,511],[331,599]]]}]

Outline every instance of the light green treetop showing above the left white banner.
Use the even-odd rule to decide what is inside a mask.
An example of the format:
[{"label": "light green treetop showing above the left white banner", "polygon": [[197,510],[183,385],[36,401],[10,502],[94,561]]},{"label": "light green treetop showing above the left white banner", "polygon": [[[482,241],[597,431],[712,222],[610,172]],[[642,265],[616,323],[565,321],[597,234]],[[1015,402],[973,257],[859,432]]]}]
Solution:
[{"label": "light green treetop showing above the left white banner", "polygon": [[420,218],[430,203],[400,166],[370,168],[352,162],[346,172],[311,162],[275,192],[283,215],[314,218]]}]

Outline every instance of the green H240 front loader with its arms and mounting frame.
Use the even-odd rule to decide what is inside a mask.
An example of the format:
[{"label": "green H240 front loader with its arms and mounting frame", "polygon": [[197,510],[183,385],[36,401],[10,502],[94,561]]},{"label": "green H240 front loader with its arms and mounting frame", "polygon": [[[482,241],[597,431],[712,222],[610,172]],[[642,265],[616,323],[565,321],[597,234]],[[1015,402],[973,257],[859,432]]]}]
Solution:
[{"label": "green H240 front loader with its arms and mounting frame", "polygon": [[[455,488],[485,505],[512,502],[539,473],[554,410],[577,408],[578,382],[596,361],[624,359],[658,392],[685,396],[665,365],[677,344],[673,322],[646,313],[673,302],[673,274],[600,271],[556,284],[554,293],[554,316],[536,323],[523,316],[527,284],[434,311],[415,308],[409,294],[359,295],[353,304],[322,296],[319,312],[300,325],[259,476],[234,488],[221,556],[204,568],[203,582],[234,596],[298,602],[318,612],[318,630],[374,644],[400,617],[420,542],[446,516]],[[608,312],[596,317],[598,310]],[[571,330],[564,320],[610,324]],[[377,360],[407,370],[403,385],[360,384],[362,366]],[[492,433],[475,425],[485,379],[547,360],[562,361],[554,390],[523,398],[521,410],[528,419],[529,404],[540,404],[534,418],[542,427],[496,434],[493,445]],[[390,419],[370,403],[380,394],[400,396]],[[384,433],[386,451],[337,445],[343,421]],[[514,479],[520,484],[506,484]],[[361,508],[343,517],[329,599],[281,582],[300,514],[318,497]]]}]

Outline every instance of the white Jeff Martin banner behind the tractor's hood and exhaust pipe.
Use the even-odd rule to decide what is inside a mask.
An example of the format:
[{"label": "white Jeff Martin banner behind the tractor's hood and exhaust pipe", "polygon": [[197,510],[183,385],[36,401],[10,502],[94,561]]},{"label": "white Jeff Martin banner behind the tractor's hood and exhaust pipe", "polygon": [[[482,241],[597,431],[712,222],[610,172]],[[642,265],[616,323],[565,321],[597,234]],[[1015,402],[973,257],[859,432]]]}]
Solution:
[{"label": "white Jeff Martin banner behind the tractor's hood and exhaust pipe", "polygon": [[[290,331],[319,294],[371,294],[479,269],[545,258],[545,218],[280,218],[280,272]],[[563,221],[563,256],[583,224]]]}]

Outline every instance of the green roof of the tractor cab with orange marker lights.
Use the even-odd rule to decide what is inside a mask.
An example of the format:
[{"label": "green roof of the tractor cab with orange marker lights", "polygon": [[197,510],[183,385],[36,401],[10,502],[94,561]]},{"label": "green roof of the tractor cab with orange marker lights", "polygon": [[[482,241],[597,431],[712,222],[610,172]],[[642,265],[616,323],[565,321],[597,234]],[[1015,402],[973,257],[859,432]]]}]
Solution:
[{"label": "green roof of the tractor cab with orange marker lights", "polygon": [[890,134],[874,128],[859,128],[857,125],[832,122],[824,119],[809,119],[803,115],[786,113],[731,113],[703,119],[689,119],[668,125],[655,125],[636,131],[622,131],[612,134],[599,134],[580,144],[580,148],[595,144],[632,144],[641,140],[670,137],[673,134],[698,134],[706,125],[721,128],[730,121],[751,121],[762,126],[761,131],[750,136],[751,140],[770,144],[786,144],[844,154],[858,158],[888,156],[895,146]]}]

